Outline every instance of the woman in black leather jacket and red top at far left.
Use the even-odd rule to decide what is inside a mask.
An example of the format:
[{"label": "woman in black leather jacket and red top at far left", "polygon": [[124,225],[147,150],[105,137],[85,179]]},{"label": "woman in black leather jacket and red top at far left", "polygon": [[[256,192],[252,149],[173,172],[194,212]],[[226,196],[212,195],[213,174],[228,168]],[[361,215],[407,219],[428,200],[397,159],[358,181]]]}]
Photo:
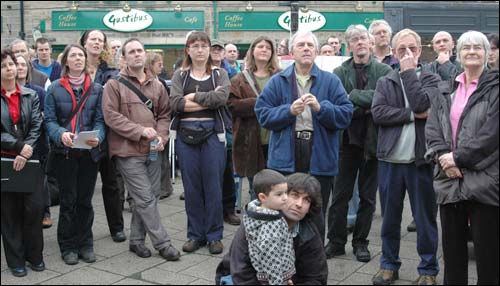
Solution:
[{"label": "woman in black leather jacket and red top at far left", "polygon": [[[12,168],[22,172],[28,159],[34,157],[42,116],[36,92],[16,82],[16,64],[14,54],[10,50],[2,50],[2,159],[12,158]],[[43,216],[41,189],[2,190],[1,201],[2,239],[10,271],[16,277],[26,276],[26,262],[35,271],[45,270],[40,223]]]}]

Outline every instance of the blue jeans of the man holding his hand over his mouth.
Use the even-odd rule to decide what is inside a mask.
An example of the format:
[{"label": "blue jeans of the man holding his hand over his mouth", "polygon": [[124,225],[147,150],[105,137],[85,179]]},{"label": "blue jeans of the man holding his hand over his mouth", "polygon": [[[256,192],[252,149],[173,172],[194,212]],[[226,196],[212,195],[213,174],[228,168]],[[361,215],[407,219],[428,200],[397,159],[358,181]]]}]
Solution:
[{"label": "blue jeans of the man holding his hand over his mouth", "polygon": [[382,256],[380,267],[399,270],[401,259],[401,216],[405,191],[410,197],[411,209],[417,224],[417,252],[420,256],[418,273],[437,275],[439,265],[436,258],[438,231],[436,224],[436,199],[432,184],[432,169],[429,165],[417,167],[411,164],[393,164],[379,161],[378,168],[380,199],[384,201],[382,222]]}]

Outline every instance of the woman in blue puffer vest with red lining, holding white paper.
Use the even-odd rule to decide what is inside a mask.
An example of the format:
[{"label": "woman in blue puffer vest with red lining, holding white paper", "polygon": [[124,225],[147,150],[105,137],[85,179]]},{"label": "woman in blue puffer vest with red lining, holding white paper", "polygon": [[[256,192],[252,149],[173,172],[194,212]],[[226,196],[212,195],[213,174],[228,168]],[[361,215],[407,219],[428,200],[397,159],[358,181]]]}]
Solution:
[{"label": "woman in blue puffer vest with red lining, holding white paper", "polygon": [[[101,109],[102,86],[92,82],[86,69],[87,54],[79,45],[68,45],[62,55],[62,77],[53,82],[45,97],[45,121],[53,164],[59,183],[60,211],[57,241],[68,265],[95,262],[92,237],[94,211],[92,195],[98,162],[103,156],[99,144],[105,136]],[[78,133],[97,130],[85,140],[85,149],[75,148]]]}]

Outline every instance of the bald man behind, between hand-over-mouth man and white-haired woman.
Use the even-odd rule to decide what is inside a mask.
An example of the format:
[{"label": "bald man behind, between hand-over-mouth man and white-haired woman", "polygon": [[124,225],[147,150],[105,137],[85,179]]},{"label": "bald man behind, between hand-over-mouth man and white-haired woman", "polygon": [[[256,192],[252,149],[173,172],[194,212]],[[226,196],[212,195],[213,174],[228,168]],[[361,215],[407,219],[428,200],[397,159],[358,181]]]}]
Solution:
[{"label": "bald man behind, between hand-over-mouth man and white-haired woman", "polygon": [[437,32],[432,38],[432,48],[438,56],[433,62],[424,65],[424,71],[433,72],[439,75],[442,80],[448,80],[462,71],[462,66],[453,55],[455,42],[453,42],[450,33]]}]

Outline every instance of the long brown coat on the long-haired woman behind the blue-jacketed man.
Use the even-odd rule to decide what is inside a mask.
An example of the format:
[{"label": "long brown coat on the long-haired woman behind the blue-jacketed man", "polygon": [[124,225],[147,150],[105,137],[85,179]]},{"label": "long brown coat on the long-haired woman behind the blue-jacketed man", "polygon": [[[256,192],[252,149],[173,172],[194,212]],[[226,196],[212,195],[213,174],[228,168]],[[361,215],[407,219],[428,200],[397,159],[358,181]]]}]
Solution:
[{"label": "long brown coat on the long-haired woman behind the blue-jacketed man", "polygon": [[[255,84],[257,92],[261,92]],[[231,79],[228,106],[233,115],[233,167],[234,172],[253,177],[266,166],[262,152],[260,125],[254,107],[257,95],[243,73]]]}]

